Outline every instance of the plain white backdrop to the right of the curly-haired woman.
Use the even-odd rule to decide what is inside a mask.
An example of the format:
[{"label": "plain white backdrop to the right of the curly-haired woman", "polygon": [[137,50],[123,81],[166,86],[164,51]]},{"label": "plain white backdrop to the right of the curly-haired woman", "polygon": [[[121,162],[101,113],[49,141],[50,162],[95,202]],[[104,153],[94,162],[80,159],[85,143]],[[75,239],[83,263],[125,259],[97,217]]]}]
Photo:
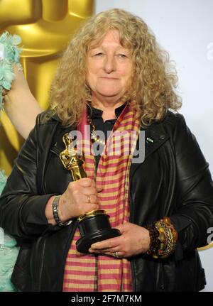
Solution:
[{"label": "plain white backdrop to the right of the curly-haired woman", "polygon": [[[180,113],[195,134],[213,176],[213,1],[97,0],[96,12],[126,9],[148,24],[158,43],[176,62]],[[212,224],[213,226],[213,224]],[[204,291],[213,291],[213,247],[200,251],[207,276]]]}]

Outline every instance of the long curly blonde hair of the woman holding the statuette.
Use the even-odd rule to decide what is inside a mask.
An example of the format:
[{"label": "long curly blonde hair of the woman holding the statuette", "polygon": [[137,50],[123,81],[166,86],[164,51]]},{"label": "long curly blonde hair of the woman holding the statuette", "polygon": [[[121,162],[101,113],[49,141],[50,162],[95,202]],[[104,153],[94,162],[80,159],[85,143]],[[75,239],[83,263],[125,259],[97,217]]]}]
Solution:
[{"label": "long curly blonde hair of the woman holding the statuette", "polygon": [[165,50],[162,50],[146,23],[122,9],[110,9],[87,19],[72,37],[62,56],[50,90],[50,107],[65,126],[77,124],[85,102],[92,100],[87,84],[87,50],[101,42],[112,29],[118,30],[120,43],[131,50],[131,86],[122,97],[130,101],[142,126],[163,119],[168,109],[182,105],[175,94],[178,77]]}]

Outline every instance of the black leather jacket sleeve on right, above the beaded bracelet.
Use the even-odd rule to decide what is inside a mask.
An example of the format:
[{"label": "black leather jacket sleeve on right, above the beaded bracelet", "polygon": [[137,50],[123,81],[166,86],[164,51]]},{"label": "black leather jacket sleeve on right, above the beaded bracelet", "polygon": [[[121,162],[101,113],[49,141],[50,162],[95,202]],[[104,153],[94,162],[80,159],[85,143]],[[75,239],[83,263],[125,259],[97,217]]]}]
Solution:
[{"label": "black leather jacket sleeve on right, above the beaded bracelet", "polygon": [[173,133],[178,195],[171,221],[179,233],[182,251],[207,245],[208,229],[213,226],[213,183],[195,136],[178,114]]}]

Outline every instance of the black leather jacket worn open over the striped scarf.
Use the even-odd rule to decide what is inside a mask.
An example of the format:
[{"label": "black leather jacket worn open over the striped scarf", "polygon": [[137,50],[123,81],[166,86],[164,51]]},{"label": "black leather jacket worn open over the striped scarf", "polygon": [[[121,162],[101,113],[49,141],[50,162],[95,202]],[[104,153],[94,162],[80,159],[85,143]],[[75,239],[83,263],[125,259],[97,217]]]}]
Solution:
[{"label": "black leather jacket worn open over the striped scarf", "polygon": [[[61,291],[65,259],[77,222],[48,224],[45,204],[60,195],[70,173],[58,157],[64,149],[61,126],[49,112],[18,154],[0,199],[0,226],[20,245],[12,282],[21,291]],[[175,253],[164,260],[144,254],[129,258],[135,291],[198,291],[204,270],[196,248],[207,244],[213,226],[213,185],[195,136],[180,114],[168,111],[146,129],[146,156],[130,173],[130,222],[143,226],[169,216],[179,232]]]}]

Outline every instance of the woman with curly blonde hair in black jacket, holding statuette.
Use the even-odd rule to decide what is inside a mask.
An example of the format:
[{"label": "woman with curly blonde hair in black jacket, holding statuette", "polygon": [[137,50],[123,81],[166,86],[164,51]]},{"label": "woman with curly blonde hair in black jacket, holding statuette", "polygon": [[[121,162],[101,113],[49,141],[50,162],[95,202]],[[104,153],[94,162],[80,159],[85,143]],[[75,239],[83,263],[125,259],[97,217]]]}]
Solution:
[{"label": "woman with curly blonde hair in black jacket, holding statuette", "polygon": [[[18,290],[204,288],[196,248],[213,222],[212,178],[183,117],[169,111],[181,105],[176,80],[141,18],[112,9],[80,28],[55,76],[53,109],[38,116],[0,199],[0,226],[21,240]],[[86,151],[87,124],[98,155]],[[104,142],[94,130],[112,133]],[[84,135],[87,177],[77,181],[60,160],[72,131]],[[116,132],[135,137],[117,151]],[[105,209],[121,235],[79,253],[77,217],[93,209]]]}]

